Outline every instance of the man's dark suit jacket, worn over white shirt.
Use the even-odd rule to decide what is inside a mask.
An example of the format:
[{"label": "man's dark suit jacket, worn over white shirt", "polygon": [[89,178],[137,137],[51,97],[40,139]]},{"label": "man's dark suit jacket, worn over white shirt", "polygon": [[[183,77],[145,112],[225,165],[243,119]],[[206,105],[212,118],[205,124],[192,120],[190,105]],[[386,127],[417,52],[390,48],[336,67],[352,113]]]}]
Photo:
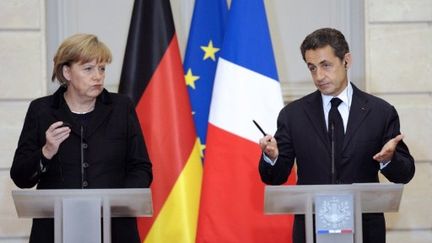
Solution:
[{"label": "man's dark suit jacket, worn over white shirt", "polygon": [[[400,134],[399,117],[395,108],[384,100],[352,86],[352,103],[336,183],[378,182],[380,165],[372,157],[388,140]],[[297,184],[331,184],[331,146],[322,107],[321,93],[317,90],[281,110],[275,134],[279,157],[274,166],[261,158],[259,172],[263,182],[283,184],[296,161]],[[381,173],[391,182],[407,183],[414,171],[414,159],[401,141],[391,163]],[[383,214],[364,215],[363,218],[364,242],[384,242]],[[295,217],[293,237],[296,243],[304,242],[303,220],[302,216]]]}]

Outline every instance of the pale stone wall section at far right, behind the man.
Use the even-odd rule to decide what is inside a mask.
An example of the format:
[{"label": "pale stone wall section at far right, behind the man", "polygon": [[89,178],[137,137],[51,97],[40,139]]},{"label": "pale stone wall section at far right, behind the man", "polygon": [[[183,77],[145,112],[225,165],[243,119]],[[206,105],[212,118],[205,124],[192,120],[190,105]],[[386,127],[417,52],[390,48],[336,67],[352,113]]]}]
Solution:
[{"label": "pale stone wall section at far right, behind the man", "polygon": [[416,159],[399,213],[388,214],[389,242],[432,242],[432,1],[367,0],[366,87],[399,112]]}]

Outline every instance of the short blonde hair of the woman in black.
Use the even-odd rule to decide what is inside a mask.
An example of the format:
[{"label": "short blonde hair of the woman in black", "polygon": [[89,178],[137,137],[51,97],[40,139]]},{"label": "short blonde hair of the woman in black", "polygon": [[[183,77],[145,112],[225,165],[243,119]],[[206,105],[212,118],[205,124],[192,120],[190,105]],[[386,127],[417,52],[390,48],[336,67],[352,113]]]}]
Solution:
[{"label": "short blonde hair of the woman in black", "polygon": [[91,34],[75,34],[63,41],[53,58],[54,68],[51,80],[57,79],[60,84],[67,83],[63,76],[63,66],[74,63],[86,63],[96,60],[98,63],[111,63],[112,55],[109,48],[97,36]]}]

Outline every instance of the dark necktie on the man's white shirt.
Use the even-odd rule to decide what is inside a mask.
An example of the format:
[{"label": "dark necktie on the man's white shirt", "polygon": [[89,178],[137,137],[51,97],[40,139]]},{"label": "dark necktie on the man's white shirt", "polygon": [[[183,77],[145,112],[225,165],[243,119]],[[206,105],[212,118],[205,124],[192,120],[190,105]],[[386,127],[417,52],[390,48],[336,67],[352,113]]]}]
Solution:
[{"label": "dark necktie on the man's white shirt", "polygon": [[332,144],[332,159],[334,158],[334,162],[332,161],[332,183],[337,183],[336,180],[338,178],[338,170],[340,166],[340,160],[342,155],[342,145],[344,140],[344,126],[342,121],[342,116],[339,113],[338,106],[342,103],[342,100],[339,98],[331,99],[332,107],[329,112],[328,117],[328,134],[330,138],[330,142]]}]

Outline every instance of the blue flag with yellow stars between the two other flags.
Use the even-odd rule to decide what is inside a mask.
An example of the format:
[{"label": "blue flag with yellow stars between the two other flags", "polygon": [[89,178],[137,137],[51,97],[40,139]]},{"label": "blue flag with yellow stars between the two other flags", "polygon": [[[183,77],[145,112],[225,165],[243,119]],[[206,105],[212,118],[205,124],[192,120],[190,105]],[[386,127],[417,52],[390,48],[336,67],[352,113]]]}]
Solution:
[{"label": "blue flag with yellow stars between the two other flags", "polygon": [[183,63],[201,157],[204,156],[213,80],[227,12],[226,0],[195,1]]}]

